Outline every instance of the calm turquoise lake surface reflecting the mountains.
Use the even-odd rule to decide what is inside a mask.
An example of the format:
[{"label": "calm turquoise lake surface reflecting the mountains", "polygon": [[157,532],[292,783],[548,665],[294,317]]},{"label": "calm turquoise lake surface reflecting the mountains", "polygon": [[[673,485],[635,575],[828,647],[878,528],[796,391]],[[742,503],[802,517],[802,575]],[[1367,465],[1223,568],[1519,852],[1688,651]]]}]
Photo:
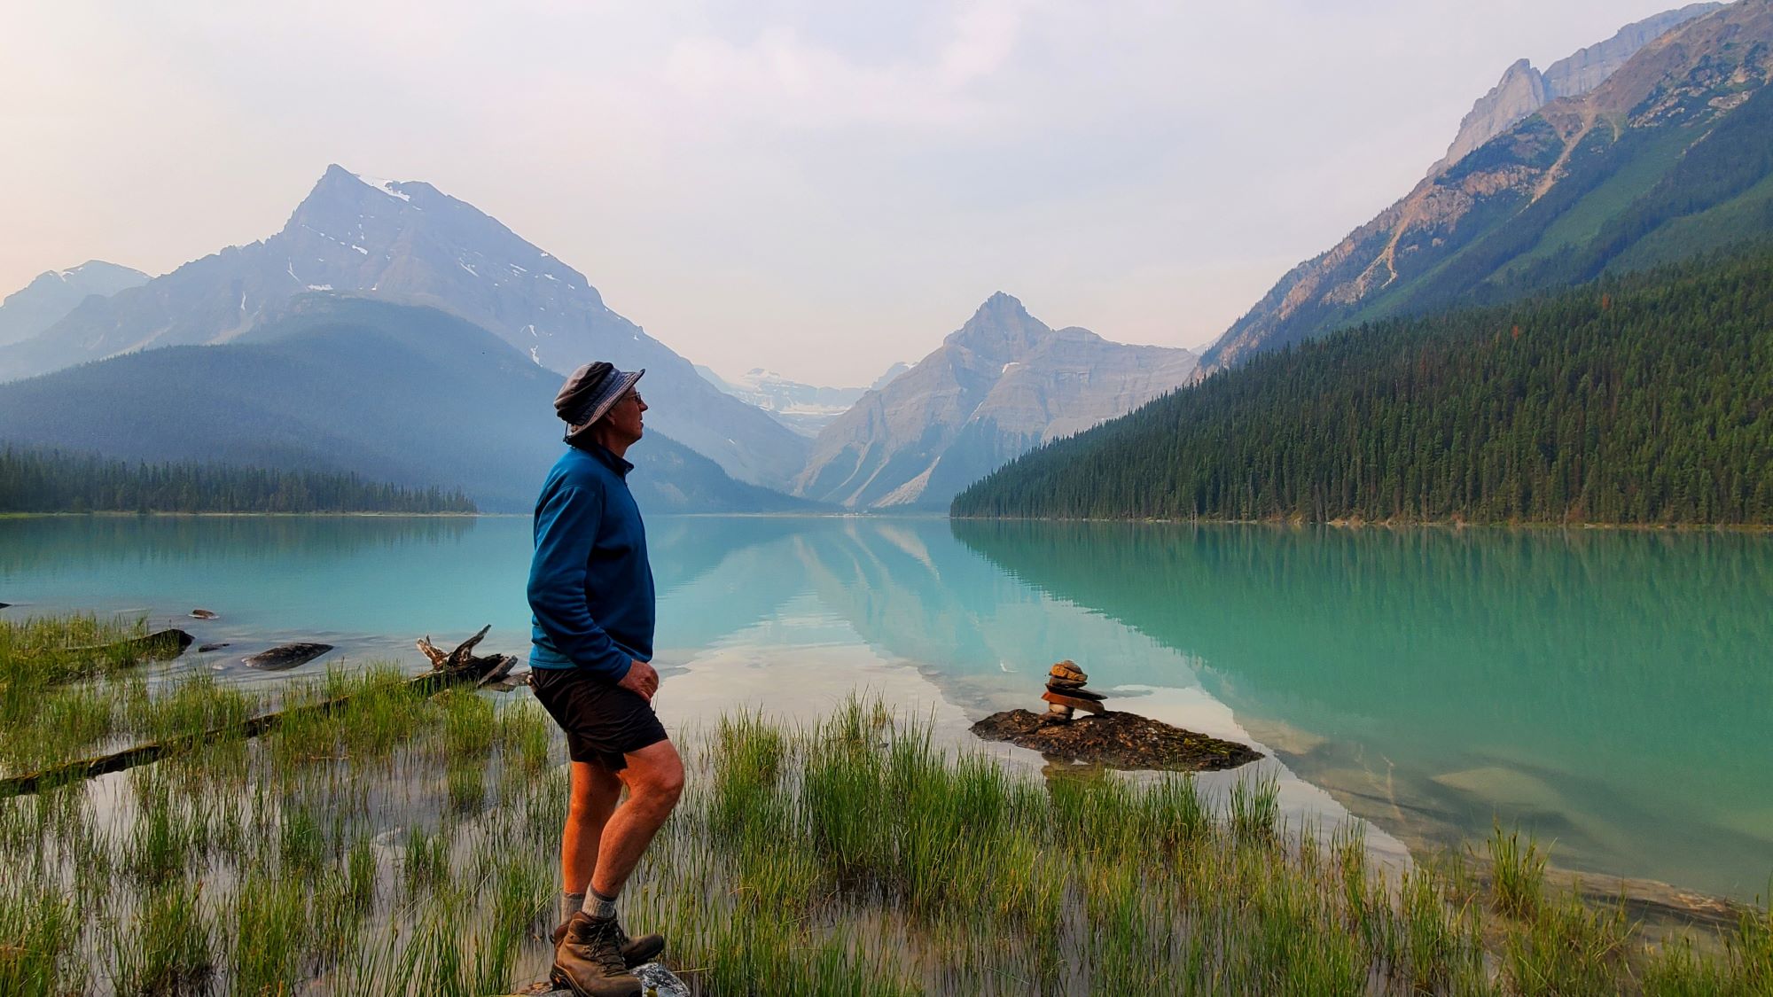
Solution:
[{"label": "calm turquoise lake surface reflecting the mountains", "polygon": [[[1500,820],[1606,876],[1773,876],[1773,538],[674,516],[649,541],[668,724],[860,688],[966,743],[1073,658],[1379,846]],[[528,550],[527,518],[0,520],[0,612],[177,619],[230,648],[176,667],[238,681],[326,667],[239,663],[294,639],[417,671],[415,637],[488,623],[525,653]]]}]

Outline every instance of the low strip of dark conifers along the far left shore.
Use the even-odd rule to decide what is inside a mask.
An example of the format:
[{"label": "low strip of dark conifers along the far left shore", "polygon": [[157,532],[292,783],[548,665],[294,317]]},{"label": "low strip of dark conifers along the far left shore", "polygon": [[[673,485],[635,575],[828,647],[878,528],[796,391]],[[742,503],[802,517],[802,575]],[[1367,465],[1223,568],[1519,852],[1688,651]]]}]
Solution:
[{"label": "low strip of dark conifers along the far left shore", "polygon": [[355,474],[0,451],[0,513],[473,513],[461,491]]}]

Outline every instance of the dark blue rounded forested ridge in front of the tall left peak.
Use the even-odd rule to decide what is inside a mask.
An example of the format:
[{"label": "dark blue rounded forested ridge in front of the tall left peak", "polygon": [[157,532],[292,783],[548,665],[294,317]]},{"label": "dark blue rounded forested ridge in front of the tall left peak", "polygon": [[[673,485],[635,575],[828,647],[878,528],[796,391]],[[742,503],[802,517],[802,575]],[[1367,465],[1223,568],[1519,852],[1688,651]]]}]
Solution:
[{"label": "dark blue rounded forested ridge in front of the tall left peak", "polygon": [[[482,511],[521,513],[562,451],[558,385],[466,319],[309,293],[268,307],[227,344],[144,349],[0,385],[0,444],[358,472],[461,488]],[[805,506],[730,479],[656,428],[629,456],[635,495],[652,511]]]}]

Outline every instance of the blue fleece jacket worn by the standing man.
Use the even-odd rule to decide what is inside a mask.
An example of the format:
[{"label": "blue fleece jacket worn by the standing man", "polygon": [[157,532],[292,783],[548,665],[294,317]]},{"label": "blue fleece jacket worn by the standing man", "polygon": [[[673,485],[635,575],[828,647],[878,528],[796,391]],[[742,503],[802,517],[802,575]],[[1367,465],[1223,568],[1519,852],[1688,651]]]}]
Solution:
[{"label": "blue fleece jacket worn by the standing man", "polygon": [[652,660],[652,566],[628,491],[633,468],[585,444],[548,472],[530,561],[532,669],[578,667],[615,683],[631,660]]}]

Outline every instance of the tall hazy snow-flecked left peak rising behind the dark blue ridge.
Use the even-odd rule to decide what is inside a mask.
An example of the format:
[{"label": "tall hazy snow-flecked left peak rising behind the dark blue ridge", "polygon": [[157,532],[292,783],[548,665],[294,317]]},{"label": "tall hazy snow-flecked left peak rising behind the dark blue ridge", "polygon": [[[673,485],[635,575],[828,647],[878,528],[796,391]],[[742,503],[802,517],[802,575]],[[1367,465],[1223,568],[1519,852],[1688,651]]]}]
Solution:
[{"label": "tall hazy snow-flecked left peak rising behind the dark blue ridge", "polygon": [[275,236],[229,247],[142,287],[87,300],[0,349],[18,378],[174,344],[229,342],[305,291],[351,291],[463,316],[558,374],[587,360],[645,367],[649,419],[736,477],[778,483],[807,442],[727,397],[690,362],[612,312],[585,275],[427,183],[328,167]]}]

